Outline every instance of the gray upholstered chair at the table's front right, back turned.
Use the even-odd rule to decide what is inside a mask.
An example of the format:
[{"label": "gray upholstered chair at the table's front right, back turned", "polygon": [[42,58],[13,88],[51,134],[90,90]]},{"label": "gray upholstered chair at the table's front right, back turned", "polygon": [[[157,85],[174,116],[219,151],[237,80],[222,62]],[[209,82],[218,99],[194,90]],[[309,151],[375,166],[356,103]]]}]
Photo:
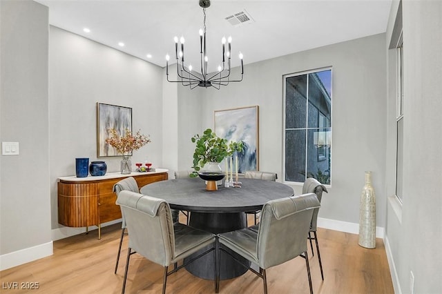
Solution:
[{"label": "gray upholstered chair at the table's front right, back turned", "polygon": [[[258,231],[243,228],[218,234],[218,239],[220,244],[231,251],[258,264],[259,272],[253,268],[248,269],[262,278],[264,293],[267,293],[267,268],[298,256],[303,257],[307,266],[310,293],[313,293],[305,236],[309,232],[314,209],[319,207],[320,203],[314,193],[271,200],[262,206]],[[217,252],[218,266],[221,252],[230,254],[220,246]],[[216,288],[219,288],[219,276],[215,280],[218,285]]]}]

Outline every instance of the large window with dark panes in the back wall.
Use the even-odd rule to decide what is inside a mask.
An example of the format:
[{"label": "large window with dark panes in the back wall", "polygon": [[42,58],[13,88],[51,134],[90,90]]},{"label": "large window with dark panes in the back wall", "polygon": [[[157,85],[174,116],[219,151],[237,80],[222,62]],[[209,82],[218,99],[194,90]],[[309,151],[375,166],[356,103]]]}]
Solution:
[{"label": "large window with dark panes in the back wall", "polygon": [[332,69],[284,77],[284,181],[330,184]]}]

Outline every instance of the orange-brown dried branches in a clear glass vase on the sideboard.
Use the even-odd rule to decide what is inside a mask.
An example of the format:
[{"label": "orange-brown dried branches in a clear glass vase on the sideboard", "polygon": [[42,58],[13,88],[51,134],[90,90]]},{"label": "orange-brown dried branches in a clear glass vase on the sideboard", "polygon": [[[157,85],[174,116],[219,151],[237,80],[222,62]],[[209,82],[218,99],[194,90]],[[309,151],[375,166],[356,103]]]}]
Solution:
[{"label": "orange-brown dried branches in a clear glass vase on the sideboard", "polygon": [[106,143],[111,145],[117,150],[117,153],[123,155],[121,162],[122,175],[128,175],[132,172],[131,159],[133,150],[138,150],[142,146],[151,142],[151,139],[147,135],[140,134],[140,130],[133,135],[131,130],[124,131],[124,136],[120,135],[115,128],[108,129],[109,137],[106,139]]}]

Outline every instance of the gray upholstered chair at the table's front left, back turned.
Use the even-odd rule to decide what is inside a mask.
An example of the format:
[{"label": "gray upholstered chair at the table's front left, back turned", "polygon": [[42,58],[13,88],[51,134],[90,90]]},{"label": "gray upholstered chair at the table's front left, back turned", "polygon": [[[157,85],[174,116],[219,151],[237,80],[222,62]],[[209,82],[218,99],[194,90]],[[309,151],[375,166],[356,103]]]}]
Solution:
[{"label": "gray upholstered chair at the table's front left, back turned", "polygon": [[[164,199],[123,190],[118,194],[117,204],[126,217],[126,226],[130,234],[129,246],[124,271],[122,293],[126,288],[127,273],[131,255],[139,253],[146,259],[164,266],[163,290],[166,293],[166,280],[183,266],[193,262],[198,257],[213,251],[215,255],[215,235],[207,233],[178,222],[172,222],[171,208]],[[181,266],[168,271],[171,264],[213,244],[209,250],[198,257],[185,262]],[[215,261],[216,262],[216,261]],[[217,275],[215,264],[215,276]],[[218,293],[216,288],[215,292]]]}]

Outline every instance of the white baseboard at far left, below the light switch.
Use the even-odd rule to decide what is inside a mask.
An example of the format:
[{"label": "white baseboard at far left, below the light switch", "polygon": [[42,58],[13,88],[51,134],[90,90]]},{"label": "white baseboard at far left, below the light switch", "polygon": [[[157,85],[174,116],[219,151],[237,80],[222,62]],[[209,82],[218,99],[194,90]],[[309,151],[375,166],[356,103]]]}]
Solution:
[{"label": "white baseboard at far left, below the light switch", "polygon": [[52,241],[0,255],[0,271],[53,254]]}]

